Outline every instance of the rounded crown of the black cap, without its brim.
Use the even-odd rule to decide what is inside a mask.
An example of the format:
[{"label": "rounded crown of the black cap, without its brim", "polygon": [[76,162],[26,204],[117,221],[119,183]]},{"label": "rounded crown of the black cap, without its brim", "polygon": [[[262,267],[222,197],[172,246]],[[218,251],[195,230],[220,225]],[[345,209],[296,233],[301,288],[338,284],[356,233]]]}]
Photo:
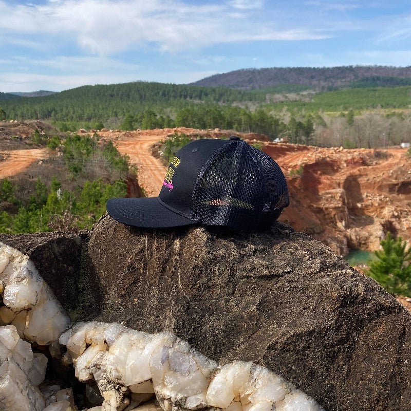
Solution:
[{"label": "rounded crown of the black cap, without its brim", "polygon": [[[170,175],[178,179],[172,188]],[[160,199],[193,221],[245,229],[257,228],[289,203],[278,164],[238,137],[196,140],[181,148]]]}]

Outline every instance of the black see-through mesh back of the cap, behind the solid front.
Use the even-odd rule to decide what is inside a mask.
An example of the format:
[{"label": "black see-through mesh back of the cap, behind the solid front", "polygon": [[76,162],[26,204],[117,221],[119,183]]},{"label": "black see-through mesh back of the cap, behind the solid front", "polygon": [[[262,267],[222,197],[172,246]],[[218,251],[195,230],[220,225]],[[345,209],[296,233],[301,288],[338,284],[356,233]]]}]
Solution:
[{"label": "black see-through mesh back of the cap, behind the solid front", "polygon": [[192,197],[192,219],[256,229],[288,206],[283,172],[244,141],[225,144],[203,166]]}]

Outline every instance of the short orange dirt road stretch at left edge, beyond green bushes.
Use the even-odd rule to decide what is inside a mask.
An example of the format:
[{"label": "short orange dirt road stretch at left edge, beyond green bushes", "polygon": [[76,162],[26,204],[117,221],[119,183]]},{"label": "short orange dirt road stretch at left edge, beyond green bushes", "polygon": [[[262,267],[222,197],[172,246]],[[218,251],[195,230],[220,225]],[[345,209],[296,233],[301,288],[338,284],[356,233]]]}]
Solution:
[{"label": "short orange dirt road stretch at left edge, beyond green bushes", "polygon": [[34,161],[50,156],[48,148],[32,148],[29,150],[0,151],[5,160],[0,161],[0,179],[11,177],[27,169]]}]

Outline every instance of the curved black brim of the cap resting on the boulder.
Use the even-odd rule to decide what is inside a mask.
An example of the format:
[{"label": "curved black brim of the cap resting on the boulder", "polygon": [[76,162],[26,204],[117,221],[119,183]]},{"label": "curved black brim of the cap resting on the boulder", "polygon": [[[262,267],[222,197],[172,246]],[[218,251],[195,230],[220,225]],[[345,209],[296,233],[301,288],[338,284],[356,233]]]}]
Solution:
[{"label": "curved black brim of the cap resting on the boulder", "polygon": [[128,226],[166,228],[196,224],[163,206],[158,197],[110,198],[106,209],[112,218]]}]

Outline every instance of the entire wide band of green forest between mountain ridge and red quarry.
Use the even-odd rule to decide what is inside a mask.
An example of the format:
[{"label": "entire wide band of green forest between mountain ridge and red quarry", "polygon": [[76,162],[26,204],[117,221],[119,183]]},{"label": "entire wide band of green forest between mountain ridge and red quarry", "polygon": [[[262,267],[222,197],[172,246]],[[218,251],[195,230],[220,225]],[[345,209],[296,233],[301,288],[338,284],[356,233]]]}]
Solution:
[{"label": "entire wide band of green forest between mountain ridge and red quarry", "polygon": [[324,92],[301,85],[255,90],[143,82],[83,86],[45,97],[3,99],[0,120],[48,120],[61,132],[221,128],[323,146],[409,141],[411,86],[360,85],[364,88]]}]

